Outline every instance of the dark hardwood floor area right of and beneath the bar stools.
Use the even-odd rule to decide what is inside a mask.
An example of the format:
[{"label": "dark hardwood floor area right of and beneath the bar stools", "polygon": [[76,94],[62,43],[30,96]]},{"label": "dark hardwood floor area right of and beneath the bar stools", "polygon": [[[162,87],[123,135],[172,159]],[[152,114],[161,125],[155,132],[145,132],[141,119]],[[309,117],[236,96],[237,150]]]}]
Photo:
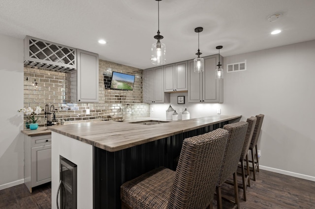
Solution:
[{"label": "dark hardwood floor area right of and beneath the bar stools", "polygon": [[[242,183],[238,176],[238,183]],[[239,189],[241,209],[315,209],[315,182],[299,179],[270,171],[256,172],[256,181],[247,187],[247,201],[243,200],[243,190]],[[222,195],[234,200],[233,186],[224,183]],[[233,205],[223,202],[224,209]],[[214,201],[214,209],[217,208]]]}]

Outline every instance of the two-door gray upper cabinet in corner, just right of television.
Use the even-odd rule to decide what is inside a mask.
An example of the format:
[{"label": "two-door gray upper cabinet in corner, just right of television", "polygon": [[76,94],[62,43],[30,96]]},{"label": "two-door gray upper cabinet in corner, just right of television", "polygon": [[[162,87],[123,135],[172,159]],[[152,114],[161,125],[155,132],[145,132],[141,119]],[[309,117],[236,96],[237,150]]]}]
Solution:
[{"label": "two-door gray upper cabinet in corner, just right of television", "polygon": [[144,99],[145,103],[168,103],[169,94],[164,93],[164,68],[159,66],[144,70]]}]

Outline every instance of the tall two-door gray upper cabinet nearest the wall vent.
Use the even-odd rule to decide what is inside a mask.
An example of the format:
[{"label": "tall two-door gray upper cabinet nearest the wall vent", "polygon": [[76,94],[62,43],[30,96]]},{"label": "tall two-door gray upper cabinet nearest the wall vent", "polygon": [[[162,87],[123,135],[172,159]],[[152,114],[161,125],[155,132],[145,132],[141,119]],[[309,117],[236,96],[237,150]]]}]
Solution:
[{"label": "tall two-door gray upper cabinet nearest the wall vent", "polygon": [[[188,61],[188,102],[189,103],[223,103],[223,79],[216,79],[219,54],[204,58],[205,71],[193,72],[193,60]],[[223,57],[220,57],[223,66]]]}]

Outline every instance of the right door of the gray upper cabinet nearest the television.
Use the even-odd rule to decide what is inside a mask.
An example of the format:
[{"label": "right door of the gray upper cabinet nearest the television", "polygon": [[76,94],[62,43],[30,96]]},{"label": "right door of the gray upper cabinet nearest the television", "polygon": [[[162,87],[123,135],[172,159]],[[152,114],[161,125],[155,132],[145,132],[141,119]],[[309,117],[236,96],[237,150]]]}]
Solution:
[{"label": "right door of the gray upper cabinet nearest the television", "polygon": [[154,69],[154,103],[164,103],[164,76],[163,66]]}]

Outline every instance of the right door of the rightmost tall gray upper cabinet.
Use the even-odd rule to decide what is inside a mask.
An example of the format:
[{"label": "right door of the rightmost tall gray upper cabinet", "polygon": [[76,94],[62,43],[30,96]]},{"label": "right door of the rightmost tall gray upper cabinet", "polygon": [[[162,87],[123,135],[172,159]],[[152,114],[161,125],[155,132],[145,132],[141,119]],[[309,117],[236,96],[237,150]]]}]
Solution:
[{"label": "right door of the rightmost tall gray upper cabinet", "polygon": [[[203,57],[205,63],[205,71],[203,72],[203,92],[202,98],[207,103],[223,102],[223,79],[216,79],[216,68],[219,62],[219,55]],[[223,65],[223,58],[220,58]]]}]

